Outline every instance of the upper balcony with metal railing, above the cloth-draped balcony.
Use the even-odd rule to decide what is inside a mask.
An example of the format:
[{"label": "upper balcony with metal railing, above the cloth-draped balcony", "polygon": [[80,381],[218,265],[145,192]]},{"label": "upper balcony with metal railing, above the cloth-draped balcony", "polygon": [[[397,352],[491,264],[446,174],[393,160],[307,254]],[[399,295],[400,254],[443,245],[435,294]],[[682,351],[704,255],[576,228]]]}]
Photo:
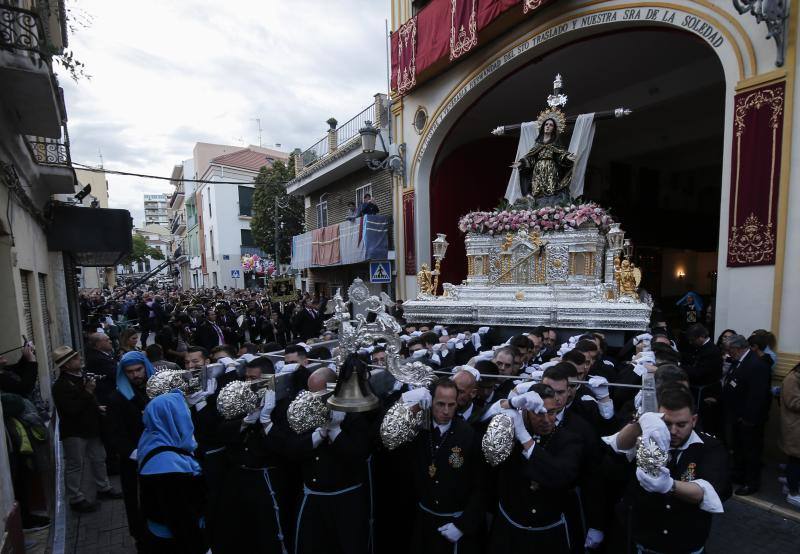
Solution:
[{"label": "upper balcony with metal railing, above the cloth-draped balcony", "polygon": [[304,196],[363,168],[359,129],[371,121],[385,132],[388,120],[384,94],[376,94],[372,104],[342,125],[329,119],[328,134],[296,158],[295,178],[286,185],[286,191]]}]

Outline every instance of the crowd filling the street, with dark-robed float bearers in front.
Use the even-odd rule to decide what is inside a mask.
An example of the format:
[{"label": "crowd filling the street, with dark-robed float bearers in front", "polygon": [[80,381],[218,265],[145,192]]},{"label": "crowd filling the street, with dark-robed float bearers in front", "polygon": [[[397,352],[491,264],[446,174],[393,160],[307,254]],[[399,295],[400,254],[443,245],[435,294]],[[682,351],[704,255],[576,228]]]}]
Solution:
[{"label": "crowd filling the street, with dark-robed float bearers in front", "polygon": [[[600,332],[406,323],[398,302],[388,311],[402,325],[401,355],[439,378],[395,382],[378,409],[332,410],[296,433],[295,398],[386,364],[380,341],[342,367],[324,362],[337,348],[325,298],[160,290],[109,303],[95,291],[82,302],[85,356],[68,346],[53,355],[68,500],[97,509],[84,468],[98,499],[119,497],[108,478],[118,471],[142,552],[702,552],[725,500],[761,485],[777,392],[764,330],[715,341],[693,323],[675,336],[654,312],[648,332],[612,349]],[[214,362],[221,369],[200,390],[146,394],[159,371]],[[0,372],[4,392],[15,371]],[[227,384],[268,374],[290,375],[290,393],[267,391],[253,412],[222,417]],[[637,388],[648,374],[651,409]],[[786,498],[800,507],[798,368],[777,401]],[[386,437],[395,406],[419,425],[402,444]],[[498,415],[515,438],[502,460],[487,448]],[[666,455],[651,471],[637,464],[640,442]]]}]

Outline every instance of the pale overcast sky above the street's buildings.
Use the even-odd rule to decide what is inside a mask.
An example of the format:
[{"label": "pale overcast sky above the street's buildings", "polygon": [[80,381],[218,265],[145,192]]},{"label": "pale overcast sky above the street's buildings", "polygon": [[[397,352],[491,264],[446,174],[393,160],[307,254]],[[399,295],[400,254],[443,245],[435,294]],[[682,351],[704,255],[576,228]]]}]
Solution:
[{"label": "pale overcast sky above the street's buildings", "polygon": [[[72,159],[169,176],[195,142],[284,151],[322,138],[386,91],[382,0],[70,0],[70,49],[91,79],[58,71]],[[82,26],[81,21],[87,22]],[[139,225],[167,181],[108,176],[109,204]]]}]

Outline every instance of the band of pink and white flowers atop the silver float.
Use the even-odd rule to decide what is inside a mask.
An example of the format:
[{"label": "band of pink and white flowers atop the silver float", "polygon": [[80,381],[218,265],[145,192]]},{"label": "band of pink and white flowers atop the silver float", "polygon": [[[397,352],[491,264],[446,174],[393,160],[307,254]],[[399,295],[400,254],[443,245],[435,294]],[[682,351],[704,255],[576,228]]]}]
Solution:
[{"label": "band of pink and white flowers atop the silver float", "polygon": [[614,219],[606,209],[594,202],[541,208],[506,205],[491,212],[470,212],[458,221],[458,228],[462,233],[494,235],[523,227],[530,231],[564,231],[577,229],[587,222],[606,232]]}]

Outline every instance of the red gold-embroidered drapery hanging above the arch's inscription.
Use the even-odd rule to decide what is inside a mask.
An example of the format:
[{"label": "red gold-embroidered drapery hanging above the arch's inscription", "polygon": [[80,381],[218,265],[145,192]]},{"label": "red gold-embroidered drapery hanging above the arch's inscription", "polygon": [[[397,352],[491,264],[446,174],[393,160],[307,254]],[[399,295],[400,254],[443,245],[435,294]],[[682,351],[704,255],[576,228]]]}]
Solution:
[{"label": "red gold-embroidered drapery hanging above the arch's inscription", "polygon": [[[474,50],[481,31],[505,12],[515,9],[530,14],[551,1],[432,0],[392,33],[392,90],[405,94],[416,86],[417,76],[435,63],[455,61]],[[463,43],[459,40],[462,27]]]}]

